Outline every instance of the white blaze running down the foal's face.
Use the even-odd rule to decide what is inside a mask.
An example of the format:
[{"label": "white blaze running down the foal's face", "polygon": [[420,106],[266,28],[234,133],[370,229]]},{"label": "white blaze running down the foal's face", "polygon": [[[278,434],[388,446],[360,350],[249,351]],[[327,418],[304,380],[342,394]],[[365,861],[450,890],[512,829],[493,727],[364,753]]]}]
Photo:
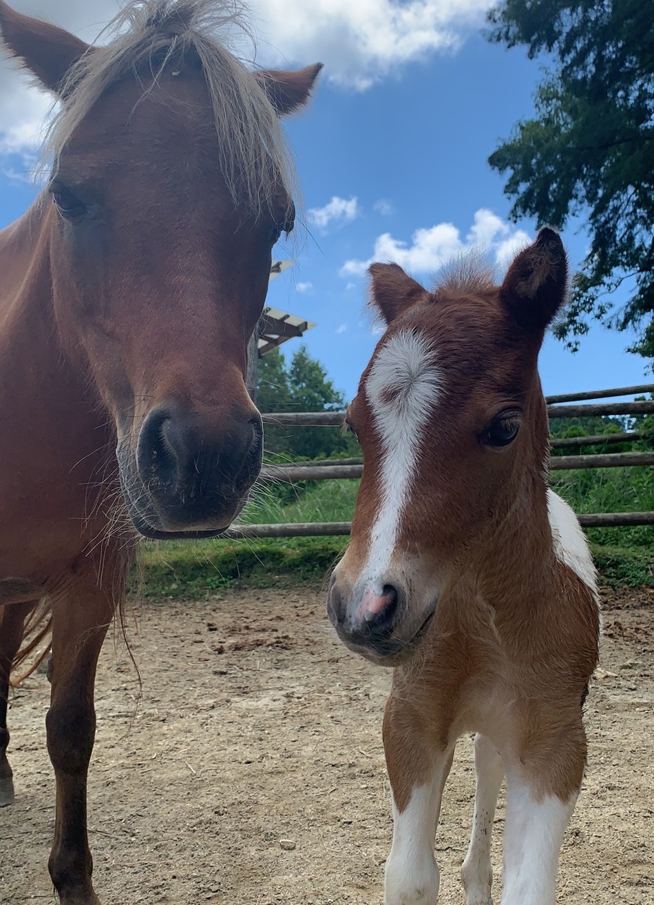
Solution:
[{"label": "white blaze running down the foal's face", "polygon": [[370,368],[366,395],[382,442],[381,506],[361,577],[379,585],[378,593],[416,477],[420,443],[442,386],[434,349],[418,330],[402,330],[391,337]]}]

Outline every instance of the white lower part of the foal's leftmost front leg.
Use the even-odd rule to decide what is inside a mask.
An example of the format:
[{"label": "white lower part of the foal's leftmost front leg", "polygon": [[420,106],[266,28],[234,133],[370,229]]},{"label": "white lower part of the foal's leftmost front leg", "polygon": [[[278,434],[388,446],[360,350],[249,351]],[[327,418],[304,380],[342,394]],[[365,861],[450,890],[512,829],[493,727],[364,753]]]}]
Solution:
[{"label": "white lower part of the foal's leftmost front leg", "polygon": [[434,859],[434,837],[451,765],[452,755],[448,753],[434,769],[431,782],[413,789],[401,814],[393,801],[393,845],[386,862],[385,905],[436,905],[441,878]]}]

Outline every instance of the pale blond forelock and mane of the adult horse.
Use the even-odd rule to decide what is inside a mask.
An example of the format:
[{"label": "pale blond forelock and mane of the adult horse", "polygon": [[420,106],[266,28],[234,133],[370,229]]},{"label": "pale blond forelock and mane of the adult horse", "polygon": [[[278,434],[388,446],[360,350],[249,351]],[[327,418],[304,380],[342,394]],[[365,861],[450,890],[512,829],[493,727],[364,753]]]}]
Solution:
[{"label": "pale blond forelock and mane of the adult horse", "polygon": [[244,62],[228,49],[235,33],[241,40],[252,39],[240,0],[130,0],[102,32],[107,43],[85,53],[69,72],[44,159],[59,157],[112,85],[130,73],[138,77],[144,69],[156,81],[166,64],[189,55],[199,62],[207,83],[231,194],[255,212],[271,204],[280,178],[293,195],[294,170],[279,119]]}]

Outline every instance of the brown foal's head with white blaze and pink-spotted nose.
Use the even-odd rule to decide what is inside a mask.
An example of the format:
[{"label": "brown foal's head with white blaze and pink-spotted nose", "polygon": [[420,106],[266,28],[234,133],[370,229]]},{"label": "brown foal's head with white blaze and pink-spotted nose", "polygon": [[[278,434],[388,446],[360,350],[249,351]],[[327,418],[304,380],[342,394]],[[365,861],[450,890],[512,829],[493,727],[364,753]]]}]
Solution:
[{"label": "brown foal's head with white blaze and pink-spotted nose", "polygon": [[348,410],[364,469],[329,614],[348,646],[392,665],[503,522],[546,512],[537,354],[566,262],[544,229],[499,287],[472,270],[430,293],[396,264],[370,272],[387,329]]}]

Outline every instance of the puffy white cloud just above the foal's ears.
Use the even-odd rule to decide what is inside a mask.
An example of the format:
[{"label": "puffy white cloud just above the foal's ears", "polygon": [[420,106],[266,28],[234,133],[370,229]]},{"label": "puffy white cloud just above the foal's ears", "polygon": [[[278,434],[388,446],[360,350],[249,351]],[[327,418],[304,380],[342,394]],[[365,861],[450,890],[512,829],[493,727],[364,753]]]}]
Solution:
[{"label": "puffy white cloud just above the foal's ears", "polygon": [[500,266],[506,266],[510,257],[528,242],[527,233],[482,207],[474,214],[474,222],[464,241],[456,226],[449,223],[417,229],[410,244],[395,239],[390,233],[382,233],[372,255],[366,261],[346,261],[341,267],[341,276],[362,276],[375,261],[394,261],[415,273],[436,271],[468,249],[479,249],[491,255]]}]

